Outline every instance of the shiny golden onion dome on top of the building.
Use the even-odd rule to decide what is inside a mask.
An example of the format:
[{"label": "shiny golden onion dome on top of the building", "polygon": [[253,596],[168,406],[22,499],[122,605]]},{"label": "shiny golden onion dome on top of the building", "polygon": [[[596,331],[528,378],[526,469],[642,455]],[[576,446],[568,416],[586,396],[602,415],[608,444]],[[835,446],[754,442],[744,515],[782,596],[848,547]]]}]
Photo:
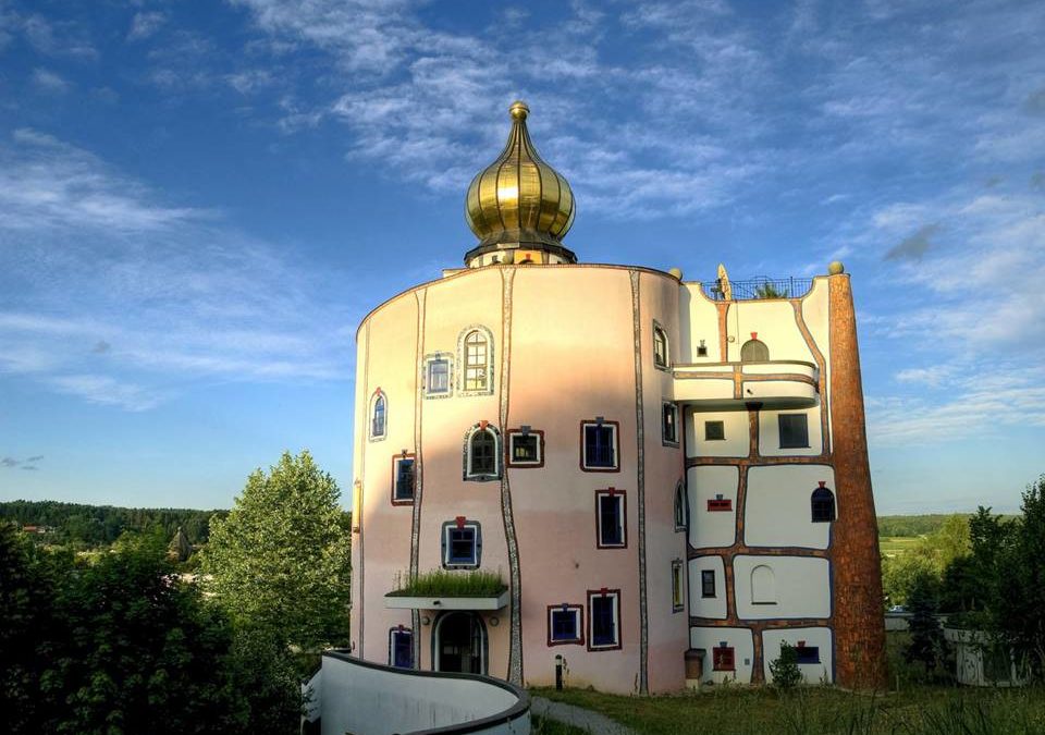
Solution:
[{"label": "shiny golden onion dome on top of the building", "polygon": [[[479,245],[466,256],[476,258],[494,250],[537,250],[543,262],[576,262],[563,247],[562,238],[574,223],[577,210],[566,179],[537,152],[526,130],[530,108],[516,101],[508,108],[512,132],[497,159],[480,171],[468,186],[465,217],[479,237]],[[495,261],[512,262],[505,254]],[[556,256],[551,258],[549,256]]]}]

